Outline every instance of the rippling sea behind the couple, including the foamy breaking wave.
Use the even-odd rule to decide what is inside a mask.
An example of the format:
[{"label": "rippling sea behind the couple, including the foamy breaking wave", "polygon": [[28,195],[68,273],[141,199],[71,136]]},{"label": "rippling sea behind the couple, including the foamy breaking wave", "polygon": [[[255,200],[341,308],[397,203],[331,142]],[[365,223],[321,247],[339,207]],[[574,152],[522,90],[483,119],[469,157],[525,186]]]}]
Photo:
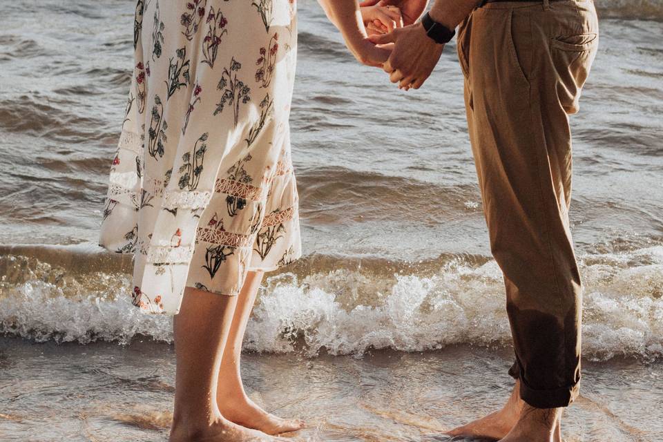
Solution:
[{"label": "rippling sea behind the couple, including the foamy breaking wave", "polygon": [[[663,2],[640,2],[640,19],[624,18],[632,3],[597,3],[619,18],[602,22],[573,117],[584,348],[591,358],[655,358],[663,354],[663,40],[653,35],[663,23],[642,18],[663,17]],[[130,77],[131,1],[0,3],[0,17],[0,330],[169,340],[167,319],[128,305],[127,258],[97,255]],[[300,4],[291,123],[305,258],[264,292],[271,313],[259,305],[247,347],[289,351],[284,331],[304,334],[311,354],[508,345],[452,46],[426,87],[405,93],[356,64],[314,2]]]}]

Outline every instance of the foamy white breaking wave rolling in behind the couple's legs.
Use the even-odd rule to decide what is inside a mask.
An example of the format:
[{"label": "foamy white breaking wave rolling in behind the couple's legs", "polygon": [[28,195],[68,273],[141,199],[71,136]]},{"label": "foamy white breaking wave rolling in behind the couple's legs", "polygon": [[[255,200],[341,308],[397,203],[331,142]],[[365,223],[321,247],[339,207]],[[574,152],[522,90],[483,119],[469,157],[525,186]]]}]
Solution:
[{"label": "foamy white breaking wave rolling in behind the couple's legs", "polygon": [[[0,263],[4,334],[79,343],[172,340],[170,318],[145,316],[131,305],[126,273],[75,274],[14,255]],[[582,256],[581,264],[584,354],[596,360],[663,356],[663,246],[595,253]],[[294,272],[267,279],[244,346],[315,356],[457,344],[510,345],[501,273],[488,258],[448,256],[436,267],[432,261],[408,267],[307,258]]]}]

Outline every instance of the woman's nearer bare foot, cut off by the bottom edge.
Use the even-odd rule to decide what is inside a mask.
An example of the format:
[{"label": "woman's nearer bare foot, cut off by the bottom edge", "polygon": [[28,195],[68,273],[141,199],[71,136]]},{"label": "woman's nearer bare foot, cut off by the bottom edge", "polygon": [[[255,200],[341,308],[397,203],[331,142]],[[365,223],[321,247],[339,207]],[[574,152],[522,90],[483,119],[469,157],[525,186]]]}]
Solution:
[{"label": "woman's nearer bare foot, cut off by the bottom edge", "polygon": [[277,442],[288,441],[251,430],[219,417],[209,425],[187,425],[173,422],[169,442]]}]

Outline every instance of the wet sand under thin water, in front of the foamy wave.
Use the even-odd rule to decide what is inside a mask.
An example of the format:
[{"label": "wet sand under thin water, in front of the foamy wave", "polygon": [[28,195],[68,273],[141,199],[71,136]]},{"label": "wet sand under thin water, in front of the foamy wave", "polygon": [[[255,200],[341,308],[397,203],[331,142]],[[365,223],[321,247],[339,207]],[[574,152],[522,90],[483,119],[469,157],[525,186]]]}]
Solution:
[{"label": "wet sand under thin water, in front of the foamy wave", "polygon": [[[0,338],[0,440],[164,441],[174,392],[171,345],[79,345]],[[499,407],[510,350],[448,347],[363,358],[244,355],[251,398],[297,416],[298,441],[449,441],[442,433]],[[567,442],[663,440],[663,361],[584,364]]]}]

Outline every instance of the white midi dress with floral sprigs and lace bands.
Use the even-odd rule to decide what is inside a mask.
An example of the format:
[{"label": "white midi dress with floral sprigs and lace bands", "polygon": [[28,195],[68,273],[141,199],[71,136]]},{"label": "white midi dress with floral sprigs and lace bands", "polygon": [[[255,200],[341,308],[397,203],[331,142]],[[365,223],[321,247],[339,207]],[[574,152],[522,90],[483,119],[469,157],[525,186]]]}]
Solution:
[{"label": "white midi dress with floral sprigs and lace bands", "polygon": [[236,295],[300,256],[288,117],[292,0],[138,0],[135,69],[99,245],[134,254],[133,302]]}]

